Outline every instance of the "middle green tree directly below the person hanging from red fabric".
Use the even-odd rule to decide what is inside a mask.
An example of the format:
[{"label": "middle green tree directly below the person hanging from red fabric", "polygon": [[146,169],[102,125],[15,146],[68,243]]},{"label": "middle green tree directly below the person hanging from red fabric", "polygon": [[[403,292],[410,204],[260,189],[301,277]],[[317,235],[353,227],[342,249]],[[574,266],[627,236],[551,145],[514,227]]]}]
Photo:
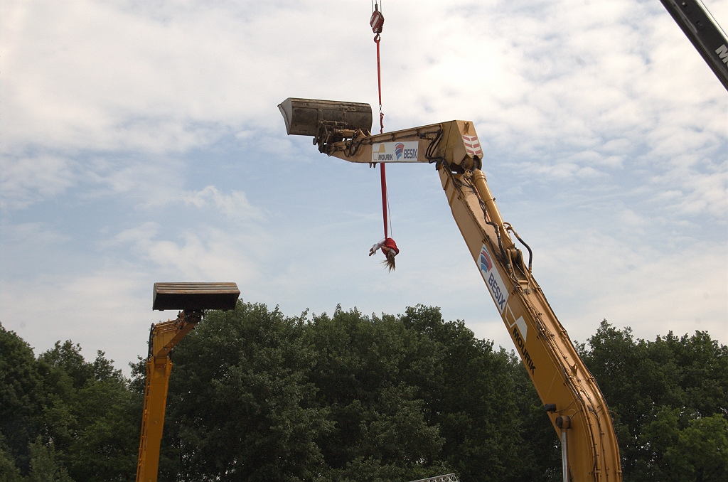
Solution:
[{"label": "middle green tree directly below the person hanging from red fabric", "polygon": [[320,440],[327,478],[412,480],[448,470],[422,390],[442,380],[434,349],[395,317],[340,306],[333,317],[314,316],[304,339],[313,353],[309,379],[333,422]]}]

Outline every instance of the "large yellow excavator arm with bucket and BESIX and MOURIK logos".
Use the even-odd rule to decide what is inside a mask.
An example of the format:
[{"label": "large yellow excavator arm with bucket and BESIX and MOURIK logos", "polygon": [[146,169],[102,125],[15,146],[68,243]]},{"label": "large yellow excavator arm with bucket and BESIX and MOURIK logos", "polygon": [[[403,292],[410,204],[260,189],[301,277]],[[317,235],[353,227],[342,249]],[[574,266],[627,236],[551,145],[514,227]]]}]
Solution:
[{"label": "large yellow excavator arm with bucket and BESIX and MOURIK logos", "polygon": [[[435,164],[470,255],[561,436],[563,480],[622,480],[620,451],[604,395],[531,274],[531,248],[503,221],[481,170],[472,122],[450,121],[371,135],[371,106],[288,98],[289,135],[313,135],[319,151],[349,162]],[[528,261],[518,241],[529,253]]]}]

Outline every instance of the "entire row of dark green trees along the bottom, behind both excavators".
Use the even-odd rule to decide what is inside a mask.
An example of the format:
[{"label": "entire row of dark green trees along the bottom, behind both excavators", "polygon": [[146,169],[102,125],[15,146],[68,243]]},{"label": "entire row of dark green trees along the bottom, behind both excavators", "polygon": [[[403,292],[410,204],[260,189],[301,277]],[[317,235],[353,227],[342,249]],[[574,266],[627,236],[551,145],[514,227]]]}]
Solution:
[{"label": "entire row of dark green trees along the bottom, behind both excavators", "polygon": [[[728,347],[633,339],[604,321],[577,347],[620,440],[625,481],[728,481]],[[133,481],[144,364],[38,357],[0,325],[0,482]],[[285,317],[210,312],[173,352],[160,481],[560,481],[558,438],[512,351],[436,308]]]}]

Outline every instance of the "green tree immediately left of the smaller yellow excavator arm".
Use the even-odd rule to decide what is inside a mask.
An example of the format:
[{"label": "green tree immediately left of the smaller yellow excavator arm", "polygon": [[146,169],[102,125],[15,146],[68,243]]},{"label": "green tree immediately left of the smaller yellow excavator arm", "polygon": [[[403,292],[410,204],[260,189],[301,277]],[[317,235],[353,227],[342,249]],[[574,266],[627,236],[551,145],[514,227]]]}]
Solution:
[{"label": "green tree immediately left of the smaller yellow excavator arm", "polygon": [[70,340],[38,357],[47,405],[41,435],[76,481],[131,481],[141,427],[141,395],[99,351],[93,362]]}]

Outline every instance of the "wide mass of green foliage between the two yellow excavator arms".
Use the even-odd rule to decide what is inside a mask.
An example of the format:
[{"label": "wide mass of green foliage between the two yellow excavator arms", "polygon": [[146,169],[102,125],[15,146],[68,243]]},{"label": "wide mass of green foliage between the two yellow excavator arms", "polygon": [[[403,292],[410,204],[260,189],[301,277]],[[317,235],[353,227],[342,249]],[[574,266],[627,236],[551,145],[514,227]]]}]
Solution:
[{"label": "wide mass of green foliage between the two yellow excavator arms", "polygon": [[558,476],[513,463],[558,462],[521,362],[435,308],[368,317],[337,307],[309,320],[240,304],[208,315],[173,362],[167,480]]}]

